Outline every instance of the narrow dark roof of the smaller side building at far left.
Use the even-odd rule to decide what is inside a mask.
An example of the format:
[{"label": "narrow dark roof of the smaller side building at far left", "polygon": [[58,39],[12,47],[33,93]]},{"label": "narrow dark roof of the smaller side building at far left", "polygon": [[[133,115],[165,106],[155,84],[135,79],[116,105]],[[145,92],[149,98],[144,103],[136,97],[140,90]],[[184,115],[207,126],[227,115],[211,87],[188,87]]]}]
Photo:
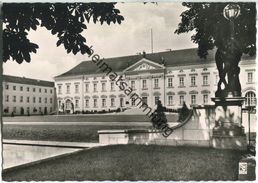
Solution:
[{"label": "narrow dark roof of the smaller side building at far left", "polygon": [[46,87],[55,86],[54,82],[51,82],[51,81],[44,81],[44,80],[10,76],[10,75],[3,75],[3,81],[9,82],[9,83],[19,83],[19,84],[46,86]]}]

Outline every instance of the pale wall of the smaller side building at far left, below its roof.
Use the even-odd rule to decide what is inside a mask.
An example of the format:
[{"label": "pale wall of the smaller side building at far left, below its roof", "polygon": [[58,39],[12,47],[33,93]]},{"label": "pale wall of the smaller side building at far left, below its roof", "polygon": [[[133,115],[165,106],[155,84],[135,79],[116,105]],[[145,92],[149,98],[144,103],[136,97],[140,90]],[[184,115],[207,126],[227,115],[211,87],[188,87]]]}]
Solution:
[{"label": "pale wall of the smaller side building at far left, below its roof", "polygon": [[[11,115],[12,112],[14,112],[14,115],[22,115],[22,113],[24,115],[28,115],[28,113],[30,115],[41,113],[49,114],[55,110],[54,95],[54,87],[36,86],[4,81],[3,106],[4,110],[8,109],[8,111],[5,111],[4,114]],[[35,98],[35,101],[33,98]]]}]

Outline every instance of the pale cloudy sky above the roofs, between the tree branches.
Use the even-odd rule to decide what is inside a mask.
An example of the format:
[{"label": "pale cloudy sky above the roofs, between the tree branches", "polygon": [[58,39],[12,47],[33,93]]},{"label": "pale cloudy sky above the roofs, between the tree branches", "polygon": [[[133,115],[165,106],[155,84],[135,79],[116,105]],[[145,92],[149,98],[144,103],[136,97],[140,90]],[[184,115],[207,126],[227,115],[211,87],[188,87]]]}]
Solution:
[{"label": "pale cloudy sky above the roofs, between the tree branches", "polygon": [[[151,29],[154,53],[197,47],[191,42],[192,32],[174,34],[185,10],[181,3],[118,3],[116,8],[125,19],[121,24],[89,23],[83,32],[87,45],[101,58],[150,53]],[[29,39],[39,46],[31,62],[9,60],[3,64],[4,74],[54,81],[55,76],[89,60],[87,55],[67,54],[62,45],[56,47],[57,37],[45,28],[30,31]]]}]

